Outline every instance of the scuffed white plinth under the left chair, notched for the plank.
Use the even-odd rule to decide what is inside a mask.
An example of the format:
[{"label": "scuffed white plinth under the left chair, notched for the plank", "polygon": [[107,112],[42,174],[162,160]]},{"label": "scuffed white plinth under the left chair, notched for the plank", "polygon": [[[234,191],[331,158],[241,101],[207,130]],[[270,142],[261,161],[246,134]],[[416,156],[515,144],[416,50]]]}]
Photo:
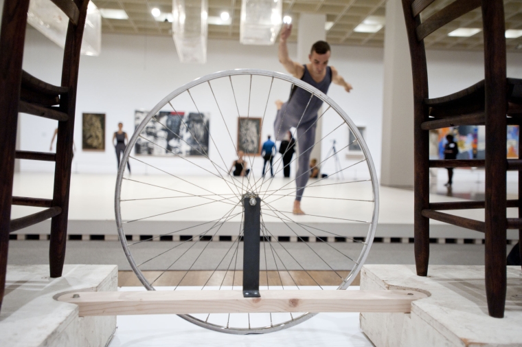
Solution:
[{"label": "scuffed white plinth under the left chair, notched for the plank", "polygon": [[54,297],[70,291],[117,291],[115,265],[65,265],[49,278],[48,265],[8,266],[0,311],[5,347],[104,347],[116,317],[78,317],[78,306]]}]

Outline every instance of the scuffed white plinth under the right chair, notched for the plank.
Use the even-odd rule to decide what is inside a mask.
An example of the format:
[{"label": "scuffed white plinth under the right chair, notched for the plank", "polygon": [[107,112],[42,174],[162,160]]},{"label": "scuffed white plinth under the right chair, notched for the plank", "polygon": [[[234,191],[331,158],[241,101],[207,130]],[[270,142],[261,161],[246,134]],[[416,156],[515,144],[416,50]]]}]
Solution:
[{"label": "scuffed white plinth under the right chair, notched for the plank", "polygon": [[376,347],[522,346],[522,271],[508,267],[506,313],[488,315],[484,266],[430,265],[428,277],[414,265],[365,265],[361,290],[413,289],[429,298],[411,313],[361,313],[361,329]]}]

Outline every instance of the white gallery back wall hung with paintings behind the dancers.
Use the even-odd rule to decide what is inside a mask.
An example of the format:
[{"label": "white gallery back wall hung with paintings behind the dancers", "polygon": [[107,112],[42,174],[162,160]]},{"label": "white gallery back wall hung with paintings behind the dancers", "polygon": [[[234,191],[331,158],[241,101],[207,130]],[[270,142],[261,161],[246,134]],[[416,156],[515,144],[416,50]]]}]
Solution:
[{"label": "white gallery back wall hung with paintings behind the dancers", "polygon": [[[290,55],[296,56],[296,45],[289,45]],[[522,52],[521,52],[522,53]],[[60,83],[63,50],[42,36],[36,30],[27,30],[23,68],[25,71],[47,82]],[[428,53],[430,74],[430,96],[442,96],[468,87],[484,76],[481,52],[432,51]],[[303,62],[304,63],[304,62]],[[364,126],[367,142],[377,172],[381,168],[381,135],[383,113],[383,49],[372,47],[332,46],[330,64],[350,82],[354,89],[346,93],[341,87],[331,85],[328,96],[352,118],[357,126]],[[277,45],[251,46],[236,41],[208,42],[208,56],[205,65],[179,63],[172,38],[159,36],[103,35],[102,54],[98,57],[82,56],[78,80],[78,99],[76,104],[75,142],[73,172],[116,173],[116,157],[111,139],[117,130],[117,123],[124,123],[124,131],[129,135],[134,129],[135,110],[150,110],[169,93],[195,78],[225,69],[268,69],[284,72],[277,60]],[[522,78],[522,54],[508,54],[508,76]],[[257,109],[266,104],[266,81],[254,78],[251,100]],[[269,81],[268,81],[269,83]],[[238,96],[240,115],[247,115],[249,80],[234,80]],[[217,86],[216,86],[217,87]],[[218,88],[219,91],[224,91]],[[288,85],[274,84],[264,119],[262,137],[273,135],[275,118],[274,101],[288,98]],[[212,96],[212,94],[210,94]],[[225,98],[225,97],[223,97]],[[220,113],[213,99],[201,94],[199,111],[209,113],[210,135],[212,136],[209,155],[213,160],[225,161],[227,166],[236,158],[233,146],[220,119]],[[196,111],[190,100],[180,100],[177,111]],[[256,109],[254,107],[254,109]],[[170,107],[163,108],[170,111]],[[233,139],[236,139],[238,111],[234,108],[222,110],[225,122]],[[250,116],[262,117],[262,111]],[[106,138],[104,152],[82,150],[82,113],[106,114]],[[214,121],[213,121],[214,120]],[[333,117],[324,121],[323,133],[333,126]],[[337,123],[336,123],[337,124]],[[413,127],[413,126],[412,126]],[[49,150],[56,122],[32,115],[21,114],[21,150]],[[404,136],[411,137],[413,128],[405,128]],[[348,131],[336,133],[337,148],[348,143]],[[220,149],[223,161],[217,156]],[[227,149],[228,148],[228,149]],[[232,148],[232,150],[230,150]],[[329,144],[324,144],[322,156],[328,152]],[[54,148],[53,148],[54,150]],[[340,152],[341,166],[350,159],[347,150]],[[411,150],[411,155],[413,148]],[[409,153],[405,153],[409,155]],[[216,157],[217,156],[217,157]],[[177,157],[152,157],[150,164],[161,162],[162,168],[170,172],[198,175],[201,170],[194,169],[183,159]],[[191,158],[192,160],[192,158]],[[195,161],[201,159],[194,159]],[[131,161],[132,165],[132,161]],[[261,170],[261,160],[256,159],[254,170]],[[47,172],[54,170],[52,163],[21,161],[21,171]],[[333,161],[327,161],[324,172],[333,172]],[[155,173],[144,165],[135,164],[133,173]],[[282,174],[280,174],[282,175]],[[351,172],[350,175],[357,175]]]}]

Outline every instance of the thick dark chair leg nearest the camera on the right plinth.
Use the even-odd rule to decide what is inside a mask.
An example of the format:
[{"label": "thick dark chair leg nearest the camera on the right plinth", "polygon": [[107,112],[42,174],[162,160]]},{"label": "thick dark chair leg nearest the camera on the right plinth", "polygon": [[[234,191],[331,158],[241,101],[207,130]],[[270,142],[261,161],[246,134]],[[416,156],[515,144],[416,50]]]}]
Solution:
[{"label": "thick dark chair leg nearest the camera on the right plinth", "polygon": [[506,304],[506,38],[502,1],[482,1],[486,96],[486,296],[490,316]]}]

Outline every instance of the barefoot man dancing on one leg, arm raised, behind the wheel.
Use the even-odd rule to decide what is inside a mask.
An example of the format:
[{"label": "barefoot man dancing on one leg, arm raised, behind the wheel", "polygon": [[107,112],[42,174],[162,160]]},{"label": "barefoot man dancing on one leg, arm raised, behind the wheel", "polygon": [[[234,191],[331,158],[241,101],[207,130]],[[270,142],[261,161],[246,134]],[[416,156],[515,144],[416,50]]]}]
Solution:
[{"label": "barefoot man dancing on one leg, arm raised, behind the wheel", "polygon": [[[283,25],[279,41],[279,61],[286,71],[295,78],[299,78],[310,85],[313,85],[323,93],[328,91],[330,83],[344,87],[345,91],[350,92],[352,85],[346,82],[332,66],[328,66],[330,59],[330,45],[325,41],[317,41],[310,50],[308,64],[301,65],[295,63],[288,56],[286,40],[292,32],[292,25]],[[310,176],[310,153],[315,142],[315,127],[317,111],[323,102],[314,97],[310,100],[310,93],[304,89],[293,89],[290,98],[282,104],[277,111],[274,122],[275,140],[280,141],[284,138],[290,128],[297,128],[297,173],[295,183],[297,192],[293,206],[294,214],[304,214],[301,210],[301,198],[303,197],[304,187]]]}]

